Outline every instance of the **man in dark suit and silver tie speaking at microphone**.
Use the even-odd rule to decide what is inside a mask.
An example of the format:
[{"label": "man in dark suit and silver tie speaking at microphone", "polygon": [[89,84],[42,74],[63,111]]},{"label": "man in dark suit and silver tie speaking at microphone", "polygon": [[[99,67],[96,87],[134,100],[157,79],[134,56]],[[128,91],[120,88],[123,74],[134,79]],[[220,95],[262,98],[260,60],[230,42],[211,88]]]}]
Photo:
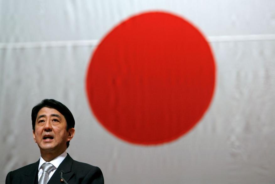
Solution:
[{"label": "man in dark suit and silver tie speaking at microphone", "polygon": [[[42,100],[32,109],[31,119],[40,159],[10,171],[6,184],[104,183],[100,168],[74,161],[67,154],[66,149],[74,136],[75,122],[65,105],[52,99]],[[61,180],[61,174],[65,181]]]}]

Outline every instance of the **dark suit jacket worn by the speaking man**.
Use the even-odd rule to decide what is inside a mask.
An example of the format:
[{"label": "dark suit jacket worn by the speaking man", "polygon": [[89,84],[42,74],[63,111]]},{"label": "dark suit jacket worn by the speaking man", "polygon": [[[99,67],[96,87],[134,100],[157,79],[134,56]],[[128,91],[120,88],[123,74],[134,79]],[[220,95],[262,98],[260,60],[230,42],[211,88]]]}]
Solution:
[{"label": "dark suit jacket worn by the speaking man", "polygon": [[[6,177],[6,184],[37,184],[38,165],[39,160],[15,171],[10,171]],[[66,158],[58,166],[48,184],[61,183],[59,172],[62,170],[64,171],[63,178],[68,183],[104,184],[103,175],[99,167],[75,161],[69,154],[67,154]]]}]

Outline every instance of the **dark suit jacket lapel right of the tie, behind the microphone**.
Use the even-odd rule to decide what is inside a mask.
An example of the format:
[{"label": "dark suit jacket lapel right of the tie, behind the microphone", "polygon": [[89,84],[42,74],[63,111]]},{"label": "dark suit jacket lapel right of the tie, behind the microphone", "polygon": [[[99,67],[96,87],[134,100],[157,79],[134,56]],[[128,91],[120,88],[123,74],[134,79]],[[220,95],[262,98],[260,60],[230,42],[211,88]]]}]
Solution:
[{"label": "dark suit jacket lapel right of the tie, behind the microphone", "polygon": [[57,170],[54,172],[54,174],[51,176],[51,179],[49,180],[48,184],[56,184],[60,182],[60,171],[63,172],[63,178],[66,181],[69,181],[70,178],[73,176],[74,172],[71,171],[73,164],[72,157],[67,154],[66,158],[61,162],[61,164],[57,167]]}]

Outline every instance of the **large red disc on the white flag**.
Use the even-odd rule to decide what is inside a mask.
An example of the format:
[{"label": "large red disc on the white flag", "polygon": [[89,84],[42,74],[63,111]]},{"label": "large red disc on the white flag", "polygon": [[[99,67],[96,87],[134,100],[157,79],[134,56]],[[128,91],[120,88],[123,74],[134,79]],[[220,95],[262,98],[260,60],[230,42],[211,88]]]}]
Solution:
[{"label": "large red disc on the white flag", "polygon": [[185,19],[149,12],[116,26],[95,49],[86,88],[99,122],[117,137],[152,145],[184,135],[213,96],[215,63]]}]

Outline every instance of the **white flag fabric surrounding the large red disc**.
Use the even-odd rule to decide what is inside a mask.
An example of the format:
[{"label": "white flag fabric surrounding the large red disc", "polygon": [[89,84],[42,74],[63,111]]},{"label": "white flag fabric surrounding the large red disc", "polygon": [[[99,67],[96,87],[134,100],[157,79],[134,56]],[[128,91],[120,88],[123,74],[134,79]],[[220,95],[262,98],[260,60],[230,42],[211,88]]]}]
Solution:
[{"label": "white flag fabric surrounding the large red disc", "polygon": [[[1,4],[0,183],[9,171],[39,159],[30,115],[45,98],[72,111],[76,133],[67,152],[99,166],[105,183],[275,182],[272,0]],[[86,77],[104,36],[149,11],[173,13],[202,31],[213,51],[216,84],[210,106],[187,134],[140,145],[98,121],[89,106]]]}]

